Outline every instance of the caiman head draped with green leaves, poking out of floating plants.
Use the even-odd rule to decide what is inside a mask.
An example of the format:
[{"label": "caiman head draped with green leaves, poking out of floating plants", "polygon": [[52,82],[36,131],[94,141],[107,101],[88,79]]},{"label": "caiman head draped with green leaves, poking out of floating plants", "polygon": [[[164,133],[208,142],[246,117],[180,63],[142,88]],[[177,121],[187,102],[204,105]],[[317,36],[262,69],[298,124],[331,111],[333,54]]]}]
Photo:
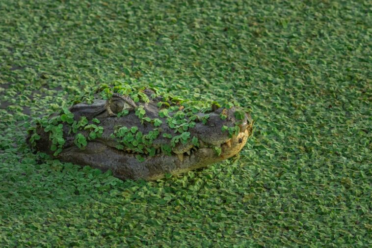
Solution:
[{"label": "caiman head draped with green leaves, poking out of floating plants", "polygon": [[252,134],[232,103],[188,101],[153,87],[115,83],[37,121],[33,148],[121,179],[156,180],[237,154]]}]

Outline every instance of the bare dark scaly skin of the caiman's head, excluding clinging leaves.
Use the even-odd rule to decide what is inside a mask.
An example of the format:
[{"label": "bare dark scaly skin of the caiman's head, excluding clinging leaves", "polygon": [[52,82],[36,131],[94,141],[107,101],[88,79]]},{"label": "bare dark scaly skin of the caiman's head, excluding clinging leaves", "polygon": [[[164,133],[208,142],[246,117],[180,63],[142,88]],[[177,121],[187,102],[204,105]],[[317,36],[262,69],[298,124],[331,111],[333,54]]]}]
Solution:
[{"label": "bare dark scaly skin of the caiman's head, excluding clinging leaves", "polygon": [[[252,133],[252,119],[249,113],[244,112],[243,118],[236,119],[235,111],[238,107],[224,109],[216,105],[212,105],[208,112],[195,113],[200,118],[195,120],[195,126],[188,129],[190,137],[198,139],[198,145],[195,146],[189,138],[185,143],[178,142],[175,146],[171,146],[172,151],[168,154],[162,151],[162,144],[169,144],[170,138],[164,138],[162,134],[171,134],[172,137],[179,135],[174,134],[174,129],[168,126],[166,117],[159,117],[159,101],[162,101],[161,96],[154,96],[154,91],[150,89],[142,90],[148,97],[150,102],[134,102],[130,96],[114,93],[108,100],[95,99],[93,104],[79,103],[73,105],[69,110],[74,115],[74,120],[78,121],[82,116],[85,116],[89,123],[93,118],[100,120],[99,126],[104,128],[102,137],[89,140],[87,145],[81,149],[75,143],[75,135],[71,133],[68,125],[63,125],[63,144],[62,152],[57,154],[55,158],[71,162],[78,165],[90,165],[99,168],[102,171],[111,170],[113,175],[121,179],[145,179],[156,180],[164,176],[165,173],[179,174],[195,168],[200,168],[210,165],[239,153],[247,141],[247,138]],[[177,103],[170,102],[170,105],[175,106]],[[138,161],[135,152],[128,147],[118,149],[120,139],[113,138],[112,134],[118,127],[138,127],[138,131],[147,134],[154,130],[155,126],[150,122],[141,122],[141,119],[135,115],[135,110],[139,106],[143,106],[146,111],[146,116],[151,119],[158,118],[162,121],[161,125],[156,127],[159,130],[159,136],[153,140],[151,147],[155,148],[155,154],[150,156],[148,152],[141,153],[143,161]],[[121,110],[129,110],[125,116],[117,116]],[[179,110],[183,110],[180,106]],[[226,119],[222,120],[221,112],[224,112]],[[172,117],[176,111],[169,112]],[[203,124],[200,119],[208,114],[207,123]],[[56,116],[53,114],[51,117]],[[199,120],[199,121],[198,121]],[[239,124],[239,133],[234,135],[223,132],[222,127],[234,127]],[[35,148],[39,151],[53,154],[50,147],[50,133],[45,132],[39,125],[36,128],[36,133],[40,139],[36,141]],[[88,136],[88,131],[81,130],[79,133],[85,137]],[[220,154],[216,153],[214,148],[221,148]]]}]

